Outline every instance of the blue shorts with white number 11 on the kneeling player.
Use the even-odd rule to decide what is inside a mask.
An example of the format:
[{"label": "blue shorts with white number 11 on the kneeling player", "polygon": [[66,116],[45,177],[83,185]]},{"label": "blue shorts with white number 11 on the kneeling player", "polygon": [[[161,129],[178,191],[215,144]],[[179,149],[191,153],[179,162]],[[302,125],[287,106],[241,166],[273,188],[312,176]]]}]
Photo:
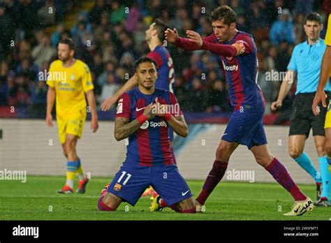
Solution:
[{"label": "blue shorts with white number 11 on the kneeling player", "polygon": [[108,187],[108,192],[134,206],[148,186],[153,186],[168,205],[192,196],[176,165],[134,166],[124,163]]}]

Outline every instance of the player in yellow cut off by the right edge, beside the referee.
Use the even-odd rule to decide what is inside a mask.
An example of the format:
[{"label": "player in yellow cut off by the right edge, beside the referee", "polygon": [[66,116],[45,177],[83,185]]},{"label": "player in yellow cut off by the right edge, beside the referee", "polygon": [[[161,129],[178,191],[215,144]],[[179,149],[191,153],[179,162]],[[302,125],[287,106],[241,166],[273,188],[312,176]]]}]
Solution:
[{"label": "player in yellow cut off by the right edge, beside the referee", "polygon": [[[323,55],[323,61],[321,65],[321,75],[320,80],[318,82],[318,87],[316,91],[316,96],[314,98],[313,105],[311,105],[311,110],[313,110],[314,115],[319,115],[321,112],[321,106],[318,104],[322,102],[322,108],[326,108],[326,101],[325,101],[325,92],[324,87],[327,84],[327,82],[330,79],[331,76],[331,15],[329,15],[328,20],[328,31],[326,32],[325,45],[327,45],[324,55]],[[330,83],[329,83],[330,84]],[[327,160],[329,163],[329,173],[331,173],[331,112],[330,112],[330,100],[328,105],[328,112],[325,117],[325,151],[327,154]],[[330,206],[330,201],[327,200],[323,201],[323,205],[325,207]]]}]

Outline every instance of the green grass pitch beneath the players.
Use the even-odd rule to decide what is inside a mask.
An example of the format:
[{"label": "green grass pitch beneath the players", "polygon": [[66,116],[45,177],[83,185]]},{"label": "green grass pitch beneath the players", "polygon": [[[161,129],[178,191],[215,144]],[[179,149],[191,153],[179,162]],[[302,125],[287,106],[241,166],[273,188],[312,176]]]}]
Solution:
[{"label": "green grass pitch beneath the players", "polygon": [[[96,207],[108,178],[92,178],[85,194],[57,194],[64,177],[29,176],[27,182],[0,182],[0,220],[323,220],[331,219],[330,208],[315,207],[302,216],[283,216],[293,199],[278,184],[221,182],[199,214],[178,214],[169,208],[149,212],[149,198],[140,198],[135,207],[122,203],[116,212],[100,212]],[[75,185],[77,181],[75,182]],[[203,181],[189,180],[194,196]],[[300,185],[316,200],[314,185]]]}]

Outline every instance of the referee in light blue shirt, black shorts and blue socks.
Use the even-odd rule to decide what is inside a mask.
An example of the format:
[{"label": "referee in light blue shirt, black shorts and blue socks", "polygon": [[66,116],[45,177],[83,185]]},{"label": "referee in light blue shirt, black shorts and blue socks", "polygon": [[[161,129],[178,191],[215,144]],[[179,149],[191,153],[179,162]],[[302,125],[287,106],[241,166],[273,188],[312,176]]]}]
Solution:
[{"label": "referee in light blue shirt, black shorts and blue socks", "polygon": [[[292,87],[295,75],[297,75],[297,89],[295,100],[292,105],[290,117],[289,152],[290,156],[304,169],[316,182],[317,202],[316,206],[324,206],[324,201],[330,200],[331,175],[328,171],[328,161],[325,153],[325,132],[324,121],[326,108],[321,108],[321,115],[315,117],[311,112],[311,104],[318,85],[318,78],[321,72],[321,63],[326,45],[320,38],[323,24],[321,15],[309,13],[304,22],[304,31],[307,40],[296,45],[288,71],[284,78],[277,101],[271,105],[272,110],[281,107],[288,91]],[[330,84],[325,86],[325,92],[331,91]],[[331,96],[330,96],[331,97]],[[320,165],[321,174],[316,170],[308,154],[304,152],[304,144],[309,137],[310,130],[313,130],[316,152]],[[321,190],[321,183],[323,188]]]}]

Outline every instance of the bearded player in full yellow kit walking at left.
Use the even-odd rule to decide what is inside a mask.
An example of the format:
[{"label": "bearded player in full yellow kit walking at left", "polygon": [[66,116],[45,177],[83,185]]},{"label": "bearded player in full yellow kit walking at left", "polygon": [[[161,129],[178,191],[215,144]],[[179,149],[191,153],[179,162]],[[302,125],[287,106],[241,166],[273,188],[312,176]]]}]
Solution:
[{"label": "bearded player in full yellow kit walking at left", "polygon": [[46,124],[52,127],[52,108],[56,100],[57,126],[64,155],[68,159],[66,184],[58,193],[73,193],[75,174],[80,179],[78,193],[84,193],[89,179],[82,170],[80,158],[76,153],[78,138],[82,137],[87,117],[87,102],[91,108],[91,130],[98,129],[96,102],[89,67],[74,59],[74,44],[71,39],[59,42],[59,60],[53,61],[47,75],[47,115]]}]

